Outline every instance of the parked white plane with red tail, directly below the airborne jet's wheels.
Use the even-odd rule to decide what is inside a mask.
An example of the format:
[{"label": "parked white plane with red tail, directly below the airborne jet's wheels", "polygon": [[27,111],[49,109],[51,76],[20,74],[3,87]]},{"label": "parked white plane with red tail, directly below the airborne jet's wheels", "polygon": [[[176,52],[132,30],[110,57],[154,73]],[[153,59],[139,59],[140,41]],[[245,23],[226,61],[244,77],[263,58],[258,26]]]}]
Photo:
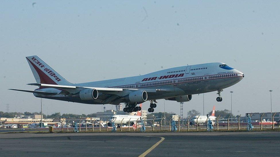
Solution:
[{"label": "parked white plane with red tail, directly below the airborne jet's wheels", "polygon": [[[142,104],[139,105],[140,109],[142,108]],[[133,124],[136,124],[137,120],[142,120],[143,117],[141,117],[141,112],[137,111],[136,115],[121,115],[121,114],[115,114],[113,115],[109,122],[108,122],[108,126],[112,126],[112,122],[114,122],[114,124],[120,126],[120,124],[127,124],[128,122],[130,122],[130,125],[133,126]]]}]

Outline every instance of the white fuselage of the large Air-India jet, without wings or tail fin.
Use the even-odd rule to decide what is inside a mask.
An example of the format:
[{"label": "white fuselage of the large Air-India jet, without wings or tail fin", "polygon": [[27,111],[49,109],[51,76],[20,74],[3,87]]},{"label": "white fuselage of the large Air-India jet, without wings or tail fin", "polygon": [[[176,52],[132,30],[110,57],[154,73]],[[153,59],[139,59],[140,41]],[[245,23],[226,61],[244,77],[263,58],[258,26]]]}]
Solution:
[{"label": "white fuselage of the large Air-India jet, without wings or tail fin", "polygon": [[[101,88],[122,88],[122,89],[143,89],[154,90],[160,89],[162,92],[148,93],[147,100],[168,99],[183,95],[192,95],[213,92],[230,87],[243,79],[244,74],[230,67],[221,67],[224,63],[205,63],[197,65],[188,65],[174,67],[170,69],[160,70],[140,76],[118,78],[112,80],[103,80],[96,82],[87,82],[80,84],[69,84],[71,86],[83,87],[101,87]],[[53,90],[53,91],[52,91]],[[58,89],[44,88],[38,91],[58,92]],[[129,90],[123,92],[111,92],[119,97],[125,97],[129,94]],[[68,95],[58,94],[54,96],[37,97],[48,99],[63,100],[69,102],[79,102],[84,104],[104,104],[102,93],[95,100],[80,100],[69,98]],[[104,93],[106,96],[106,93]],[[127,100],[121,102],[110,102],[109,104],[118,105],[119,103],[128,103]]]}]

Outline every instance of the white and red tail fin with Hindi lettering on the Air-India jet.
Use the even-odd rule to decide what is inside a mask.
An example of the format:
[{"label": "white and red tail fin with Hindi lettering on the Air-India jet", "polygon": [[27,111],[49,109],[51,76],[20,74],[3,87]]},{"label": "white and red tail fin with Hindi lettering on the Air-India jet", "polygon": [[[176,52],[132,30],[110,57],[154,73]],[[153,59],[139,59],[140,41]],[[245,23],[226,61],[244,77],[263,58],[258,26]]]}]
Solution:
[{"label": "white and red tail fin with Hindi lettering on the Air-India jet", "polygon": [[26,59],[38,84],[71,84],[61,75],[59,75],[54,69],[48,66],[48,64],[42,61],[38,56],[29,56],[26,57]]}]

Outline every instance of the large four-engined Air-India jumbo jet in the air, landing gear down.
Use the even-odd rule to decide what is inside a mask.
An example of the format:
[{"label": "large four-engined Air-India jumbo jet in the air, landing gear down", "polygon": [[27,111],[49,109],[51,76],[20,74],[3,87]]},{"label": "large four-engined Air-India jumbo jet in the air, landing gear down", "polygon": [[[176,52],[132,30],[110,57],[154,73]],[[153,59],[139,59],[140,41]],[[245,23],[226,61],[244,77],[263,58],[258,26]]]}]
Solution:
[{"label": "large four-engined Air-India jumbo jet in the air, landing gear down", "polygon": [[150,101],[148,112],[154,112],[158,99],[188,102],[193,94],[217,91],[218,102],[221,92],[243,79],[244,74],[225,63],[185,65],[155,71],[145,75],[111,80],[72,84],[48,66],[38,56],[26,57],[38,86],[31,92],[35,97],[77,102],[83,104],[125,103],[124,112],[136,112],[137,104]]}]

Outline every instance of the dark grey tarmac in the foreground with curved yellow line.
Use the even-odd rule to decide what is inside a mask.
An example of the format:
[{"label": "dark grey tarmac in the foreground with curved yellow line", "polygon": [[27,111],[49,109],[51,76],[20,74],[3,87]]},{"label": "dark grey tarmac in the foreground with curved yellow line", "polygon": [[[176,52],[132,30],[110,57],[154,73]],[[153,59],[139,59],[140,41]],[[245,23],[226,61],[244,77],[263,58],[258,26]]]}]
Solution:
[{"label": "dark grey tarmac in the foreground with curved yellow line", "polygon": [[280,132],[6,133],[1,156],[278,156]]}]

